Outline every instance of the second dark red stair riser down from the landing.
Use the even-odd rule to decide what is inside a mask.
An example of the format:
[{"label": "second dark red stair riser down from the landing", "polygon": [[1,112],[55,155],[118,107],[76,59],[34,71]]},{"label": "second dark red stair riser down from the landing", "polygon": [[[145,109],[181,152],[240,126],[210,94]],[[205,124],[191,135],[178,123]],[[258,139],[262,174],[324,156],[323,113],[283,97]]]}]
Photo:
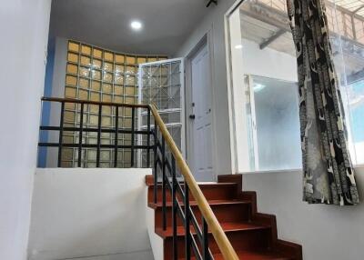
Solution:
[{"label": "second dark red stair riser down from the landing", "polygon": [[[210,205],[212,211],[217,216],[217,220],[221,222],[239,222],[249,220],[249,204],[232,204],[232,205]],[[200,223],[202,215],[197,208],[197,205],[191,206],[197,222]],[[233,214],[232,214],[233,213]],[[156,226],[162,226],[162,208],[158,207],[155,211]],[[167,207],[167,226],[172,225],[172,207]],[[181,218],[177,215],[177,225],[183,225]]]}]

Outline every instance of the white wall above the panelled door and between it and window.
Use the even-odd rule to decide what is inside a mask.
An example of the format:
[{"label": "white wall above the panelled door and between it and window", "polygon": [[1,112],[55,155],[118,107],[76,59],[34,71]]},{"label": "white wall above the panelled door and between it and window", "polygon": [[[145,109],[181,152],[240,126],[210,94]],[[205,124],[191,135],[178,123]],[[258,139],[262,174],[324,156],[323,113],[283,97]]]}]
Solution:
[{"label": "white wall above the panelled door and between it and window", "polygon": [[174,55],[176,57],[187,56],[197,43],[211,30],[213,45],[213,93],[212,110],[216,118],[214,125],[216,130],[217,149],[217,175],[231,173],[231,157],[228,131],[228,105],[227,105],[227,67],[225,62],[225,38],[224,15],[227,9],[233,5],[234,0],[218,1],[218,5],[209,7],[195,31],[187,37],[186,42]]}]

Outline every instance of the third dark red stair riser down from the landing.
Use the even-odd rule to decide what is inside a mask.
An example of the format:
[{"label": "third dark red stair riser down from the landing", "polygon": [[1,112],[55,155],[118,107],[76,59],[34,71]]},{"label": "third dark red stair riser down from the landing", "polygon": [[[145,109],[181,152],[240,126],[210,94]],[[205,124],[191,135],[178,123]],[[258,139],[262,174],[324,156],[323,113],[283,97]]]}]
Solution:
[{"label": "third dark red stair riser down from the landing", "polygon": [[[269,229],[263,230],[247,230],[247,231],[238,231],[238,232],[227,232],[227,238],[230,241],[231,245],[233,245],[235,250],[259,250],[265,249],[269,246]],[[199,246],[199,242],[197,236],[195,235],[195,239],[197,241],[197,245]],[[218,246],[215,242],[215,239],[212,235],[208,235],[208,247],[211,250],[212,254],[220,253]],[[168,237],[164,241],[164,254],[165,260],[172,259],[173,257],[173,239],[172,237]],[[191,249],[192,255],[193,250]],[[178,236],[177,238],[177,253],[178,258],[185,257],[185,236]]]}]

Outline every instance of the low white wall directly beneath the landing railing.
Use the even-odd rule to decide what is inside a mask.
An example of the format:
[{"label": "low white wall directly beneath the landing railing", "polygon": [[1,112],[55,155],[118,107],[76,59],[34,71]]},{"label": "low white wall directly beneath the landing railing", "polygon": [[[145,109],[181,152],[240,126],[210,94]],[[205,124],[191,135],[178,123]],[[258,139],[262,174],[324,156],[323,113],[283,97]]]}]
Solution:
[{"label": "low white wall directly beneath the landing railing", "polygon": [[37,169],[30,259],[153,259],[145,184],[151,174],[150,169]]}]

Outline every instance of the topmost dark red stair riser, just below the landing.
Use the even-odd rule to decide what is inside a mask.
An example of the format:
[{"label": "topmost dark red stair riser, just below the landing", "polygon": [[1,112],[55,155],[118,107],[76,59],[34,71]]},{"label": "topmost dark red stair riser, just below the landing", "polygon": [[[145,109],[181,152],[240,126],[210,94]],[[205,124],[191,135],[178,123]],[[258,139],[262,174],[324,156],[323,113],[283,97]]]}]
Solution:
[{"label": "topmost dark red stair riser, just below the landing", "polygon": [[[215,186],[215,185],[200,185],[202,193],[205,195],[207,200],[227,200],[227,199],[235,199],[237,198],[237,185],[223,185],[223,186]],[[177,193],[178,199],[182,200],[182,197]],[[154,189],[153,186],[149,186],[148,188],[148,203],[153,203],[154,198]],[[167,202],[172,201],[172,195],[169,189],[167,189],[166,193]],[[190,195],[190,201],[194,201],[192,195]],[[157,201],[162,201],[162,188],[158,186],[157,188]]]}]

